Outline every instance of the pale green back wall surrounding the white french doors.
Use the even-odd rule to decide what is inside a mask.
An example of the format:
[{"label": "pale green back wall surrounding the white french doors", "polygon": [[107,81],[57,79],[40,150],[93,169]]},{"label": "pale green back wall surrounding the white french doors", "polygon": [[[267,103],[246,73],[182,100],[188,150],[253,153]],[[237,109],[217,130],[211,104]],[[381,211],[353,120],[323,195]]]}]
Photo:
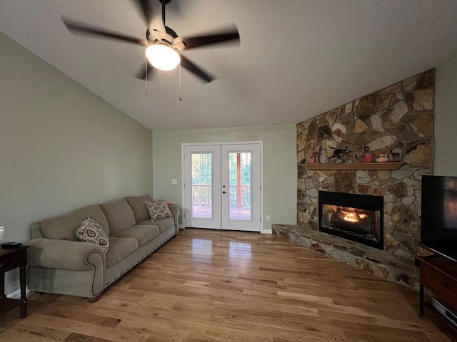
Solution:
[{"label": "pale green back wall surrounding the white french doors", "polygon": [[[182,205],[181,144],[263,141],[263,214],[271,223],[296,224],[296,126],[154,131],[154,198]],[[172,185],[171,180],[179,180]],[[263,217],[264,221],[264,217]]]}]

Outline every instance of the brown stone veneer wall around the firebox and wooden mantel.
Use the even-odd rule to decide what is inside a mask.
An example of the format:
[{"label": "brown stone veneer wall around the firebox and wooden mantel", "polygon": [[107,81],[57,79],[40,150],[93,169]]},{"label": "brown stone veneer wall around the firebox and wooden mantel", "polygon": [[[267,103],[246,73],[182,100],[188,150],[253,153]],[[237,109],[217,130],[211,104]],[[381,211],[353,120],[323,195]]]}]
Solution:
[{"label": "brown stone veneer wall around the firebox and wooden mantel", "polygon": [[[421,176],[433,167],[435,69],[407,78],[297,124],[297,222],[318,229],[318,190],[384,197],[384,249],[412,264],[420,242]],[[308,170],[321,163],[358,162],[363,146],[373,155],[399,152],[404,165],[388,170]],[[342,160],[329,157],[347,147]]]}]

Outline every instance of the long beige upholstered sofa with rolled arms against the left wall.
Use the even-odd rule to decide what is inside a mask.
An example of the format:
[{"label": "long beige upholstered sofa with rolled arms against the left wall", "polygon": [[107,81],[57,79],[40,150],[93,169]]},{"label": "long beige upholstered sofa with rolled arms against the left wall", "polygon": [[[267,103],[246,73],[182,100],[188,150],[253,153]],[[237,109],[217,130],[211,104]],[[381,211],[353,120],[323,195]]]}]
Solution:
[{"label": "long beige upholstered sofa with rolled arms against the left wall", "polygon": [[[179,232],[179,208],[173,217],[151,222],[144,202],[149,195],[94,204],[31,224],[27,249],[27,285],[32,291],[86,297],[89,301]],[[85,217],[109,235],[109,250],[79,242],[76,229]]]}]

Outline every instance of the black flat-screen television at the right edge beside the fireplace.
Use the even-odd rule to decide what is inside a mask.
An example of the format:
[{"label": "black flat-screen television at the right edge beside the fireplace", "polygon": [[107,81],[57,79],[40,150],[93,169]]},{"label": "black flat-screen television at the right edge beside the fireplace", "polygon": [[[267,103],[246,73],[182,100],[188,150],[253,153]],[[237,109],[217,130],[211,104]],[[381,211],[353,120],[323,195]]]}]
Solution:
[{"label": "black flat-screen television at the right edge beside the fireplace", "polygon": [[457,177],[422,176],[421,244],[457,261]]}]

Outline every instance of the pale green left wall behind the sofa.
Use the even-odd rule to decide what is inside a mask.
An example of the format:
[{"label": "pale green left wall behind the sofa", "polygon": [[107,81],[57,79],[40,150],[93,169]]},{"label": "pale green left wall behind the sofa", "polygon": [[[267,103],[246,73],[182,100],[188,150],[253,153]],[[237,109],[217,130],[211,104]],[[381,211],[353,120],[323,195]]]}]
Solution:
[{"label": "pale green left wall behind the sofa", "polygon": [[0,33],[7,240],[23,242],[31,222],[85,204],[152,194],[151,155],[151,130]]}]

